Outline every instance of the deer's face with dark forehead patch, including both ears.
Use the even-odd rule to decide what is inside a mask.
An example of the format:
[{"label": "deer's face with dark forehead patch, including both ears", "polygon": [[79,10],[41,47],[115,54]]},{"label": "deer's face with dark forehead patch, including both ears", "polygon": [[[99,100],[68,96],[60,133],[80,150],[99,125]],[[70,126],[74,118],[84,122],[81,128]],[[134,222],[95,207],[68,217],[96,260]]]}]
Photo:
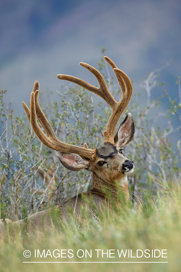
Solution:
[{"label": "deer's face with dark forehead patch, including both ears", "polygon": [[128,144],[134,135],[134,122],[129,113],[114,138],[115,144],[104,143],[103,147],[96,149],[93,161],[82,158],[77,154],[57,152],[56,155],[62,164],[69,170],[78,171],[87,169],[96,173],[103,180],[121,180],[134,170],[134,163],[123,155],[122,147]]}]

